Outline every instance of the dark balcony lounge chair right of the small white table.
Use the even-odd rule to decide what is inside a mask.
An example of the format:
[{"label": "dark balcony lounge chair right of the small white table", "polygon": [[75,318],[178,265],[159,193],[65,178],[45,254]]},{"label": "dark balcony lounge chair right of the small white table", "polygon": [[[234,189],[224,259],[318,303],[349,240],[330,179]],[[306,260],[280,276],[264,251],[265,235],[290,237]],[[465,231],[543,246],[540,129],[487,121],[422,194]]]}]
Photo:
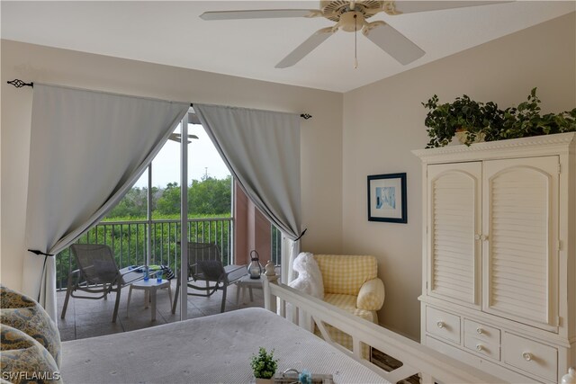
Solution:
[{"label": "dark balcony lounge chair right of the small white table", "polygon": [[[210,297],[217,290],[222,291],[220,312],[226,309],[226,290],[228,286],[247,274],[244,265],[223,266],[220,250],[215,244],[188,243],[188,281],[186,285],[202,293],[187,291],[190,296]],[[180,293],[181,273],[178,273],[172,313],[176,311],[178,294]],[[198,285],[199,282],[204,282]]]}]

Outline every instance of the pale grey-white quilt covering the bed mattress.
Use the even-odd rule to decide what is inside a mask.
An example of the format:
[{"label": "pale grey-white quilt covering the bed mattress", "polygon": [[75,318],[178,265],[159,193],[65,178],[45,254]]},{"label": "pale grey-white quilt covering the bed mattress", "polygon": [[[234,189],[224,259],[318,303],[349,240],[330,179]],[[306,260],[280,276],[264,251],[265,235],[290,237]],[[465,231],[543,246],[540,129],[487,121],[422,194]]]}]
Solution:
[{"label": "pale grey-white quilt covering the bed mattress", "polygon": [[263,308],[62,343],[72,383],[248,383],[249,358],[275,349],[278,371],[332,374],[336,383],[386,382],[319,337]]}]

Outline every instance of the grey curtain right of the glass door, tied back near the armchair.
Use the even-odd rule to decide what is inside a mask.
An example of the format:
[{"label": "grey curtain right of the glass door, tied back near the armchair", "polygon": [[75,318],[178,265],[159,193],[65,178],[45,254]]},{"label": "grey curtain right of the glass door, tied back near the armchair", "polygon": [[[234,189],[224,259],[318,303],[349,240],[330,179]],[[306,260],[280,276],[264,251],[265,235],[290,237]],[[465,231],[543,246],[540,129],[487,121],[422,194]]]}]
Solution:
[{"label": "grey curtain right of the glass door, tied back near the armchair", "polygon": [[196,103],[193,109],[247,196],[289,239],[282,255],[288,278],[302,234],[300,116]]}]

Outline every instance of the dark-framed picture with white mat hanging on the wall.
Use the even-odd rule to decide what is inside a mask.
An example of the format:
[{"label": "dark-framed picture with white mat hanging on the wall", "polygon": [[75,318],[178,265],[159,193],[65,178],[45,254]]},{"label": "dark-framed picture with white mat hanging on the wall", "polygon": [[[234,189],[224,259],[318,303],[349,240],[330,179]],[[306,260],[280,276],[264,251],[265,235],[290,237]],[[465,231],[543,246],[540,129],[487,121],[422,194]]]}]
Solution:
[{"label": "dark-framed picture with white mat hanging on the wall", "polygon": [[368,176],[368,221],[407,223],[406,174]]}]

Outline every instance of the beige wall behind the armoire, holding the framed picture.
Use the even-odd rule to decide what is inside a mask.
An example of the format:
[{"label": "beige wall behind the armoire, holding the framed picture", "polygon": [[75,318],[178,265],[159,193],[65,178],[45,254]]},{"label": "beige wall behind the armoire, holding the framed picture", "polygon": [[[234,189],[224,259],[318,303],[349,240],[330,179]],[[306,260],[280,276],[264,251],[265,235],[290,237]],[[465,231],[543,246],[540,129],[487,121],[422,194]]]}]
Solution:
[{"label": "beige wall behind the armoire, holding the framed picture", "polygon": [[[344,97],[344,252],[379,259],[386,285],[380,321],[419,338],[421,170],[411,149],[426,146],[426,110],[468,94],[501,107],[537,86],[544,112],[576,107],[575,13],[348,92]],[[408,174],[408,224],[368,222],[366,175]]]}]

